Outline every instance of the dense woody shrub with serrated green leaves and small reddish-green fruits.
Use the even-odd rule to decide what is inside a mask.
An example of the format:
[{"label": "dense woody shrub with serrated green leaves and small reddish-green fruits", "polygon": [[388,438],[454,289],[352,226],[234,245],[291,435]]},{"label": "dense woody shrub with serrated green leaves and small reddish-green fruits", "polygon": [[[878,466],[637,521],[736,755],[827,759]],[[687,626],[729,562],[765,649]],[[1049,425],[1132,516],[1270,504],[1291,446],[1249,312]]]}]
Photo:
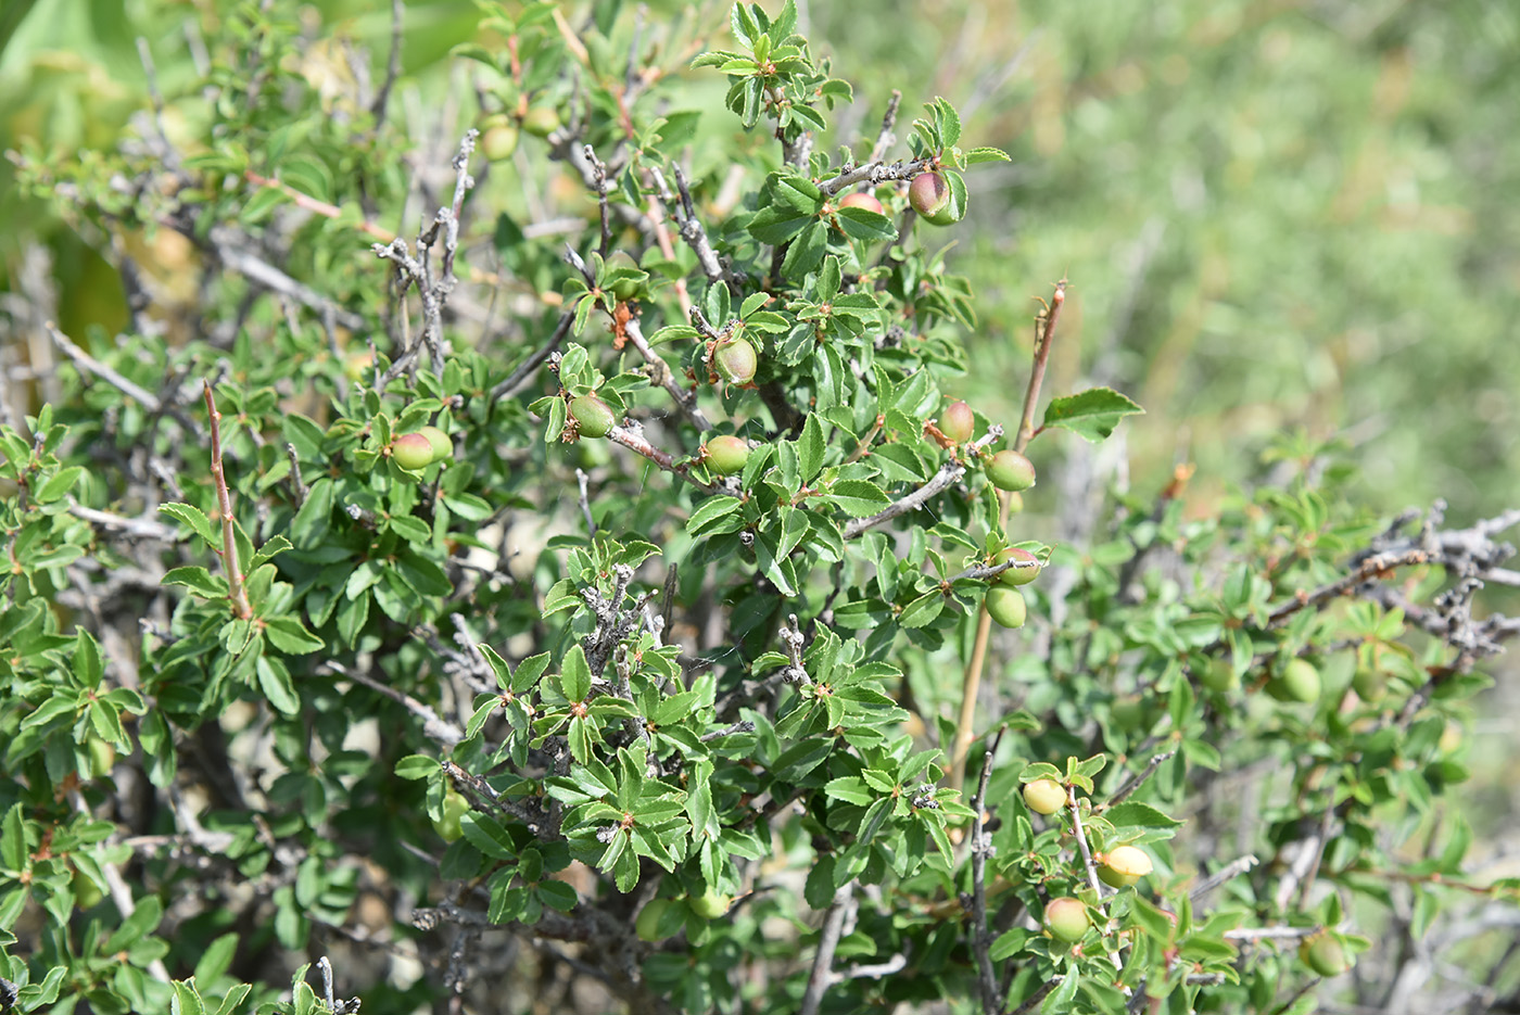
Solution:
[{"label": "dense woody shrub with serrated green leaves and small reddish-green fruits", "polygon": [[[976,319],[900,231],[907,187],[941,175],[958,219],[962,172],[1003,153],[962,149],[944,99],[894,149],[895,96],[862,150],[824,152],[850,87],[790,3],[736,6],[734,49],[692,61],[743,141],[666,105],[686,56],[648,56],[632,17],[553,15],[492,6],[506,44],[462,56],[476,119],[521,123],[514,158],[594,208],[562,258],[473,129],[415,157],[426,193],[451,167],[445,204],[389,236],[386,91],[321,91],[254,8],[208,40],[190,140],[21,158],[102,236],[176,232],[205,272],[193,328],[141,304],[117,340],[52,328],[62,397],[0,430],[21,1010],[517,1010],[529,965],[599,1010],[1275,1010],[1313,989],[1301,941],[1344,969],[1394,906],[1412,938],[1514,900],[1435,810],[1474,667],[1517,628],[1474,612],[1512,517],[1368,518],[1313,447],[1204,517],[1183,470],[1091,545],[1011,532],[986,460],[1020,465],[1005,488],[1026,453],[1059,477],[1056,432],[1140,409],[1041,397],[1062,281],[1021,416],[932,425]],[[731,147],[693,161],[693,137]],[[719,207],[731,166],[748,188]],[[892,214],[833,201],[860,184]],[[429,428],[451,457],[400,468]],[[702,465],[734,441],[742,468]],[[1044,562],[1023,593],[1014,536]],[[1029,624],[994,634],[993,596]],[[1307,655],[1322,693],[1274,702]],[[1227,659],[1239,687],[1205,676]],[[1067,804],[1031,819],[1014,798],[1047,783]],[[1097,857],[1138,846],[1142,884],[1105,887]],[[1394,945],[1319,989],[1370,1004]]]}]

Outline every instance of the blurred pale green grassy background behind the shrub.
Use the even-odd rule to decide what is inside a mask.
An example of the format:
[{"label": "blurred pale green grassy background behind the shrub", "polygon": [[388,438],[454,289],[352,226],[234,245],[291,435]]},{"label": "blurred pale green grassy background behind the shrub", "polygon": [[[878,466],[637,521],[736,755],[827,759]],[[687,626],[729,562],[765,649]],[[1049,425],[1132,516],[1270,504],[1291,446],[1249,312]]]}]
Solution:
[{"label": "blurred pale green grassy background behind the shrub", "polygon": [[[383,65],[388,6],[289,11],[312,38],[354,38]],[[1263,473],[1274,435],[1303,428],[1345,438],[1371,506],[1446,497],[1465,520],[1520,503],[1520,5],[800,6],[815,49],[856,87],[830,141],[874,137],[900,88],[900,137],[944,94],[968,144],[1014,157],[976,167],[967,220],[927,236],[958,245],[952,266],[979,295],[977,369],[962,394],[990,415],[1017,412],[1032,296],[1067,274],[1050,391],[1099,380],[1148,409],[1122,430],[1137,492],[1187,459],[1205,508]],[[135,38],[170,100],[193,94],[201,29],[187,26],[228,9],[9,0],[0,147],[112,144],[147,100]],[[477,17],[468,0],[407,3],[403,87],[459,88],[448,52]],[[727,5],[651,5],[652,21],[675,17],[725,38]],[[717,106],[720,79],[690,77],[701,105]],[[724,115],[714,135],[733,132]],[[117,327],[120,287],[91,251],[99,240],[23,202],[11,181],[6,164],[0,290],[18,289],[41,240],[65,330]],[[1037,444],[1037,459],[1056,444]]]}]

